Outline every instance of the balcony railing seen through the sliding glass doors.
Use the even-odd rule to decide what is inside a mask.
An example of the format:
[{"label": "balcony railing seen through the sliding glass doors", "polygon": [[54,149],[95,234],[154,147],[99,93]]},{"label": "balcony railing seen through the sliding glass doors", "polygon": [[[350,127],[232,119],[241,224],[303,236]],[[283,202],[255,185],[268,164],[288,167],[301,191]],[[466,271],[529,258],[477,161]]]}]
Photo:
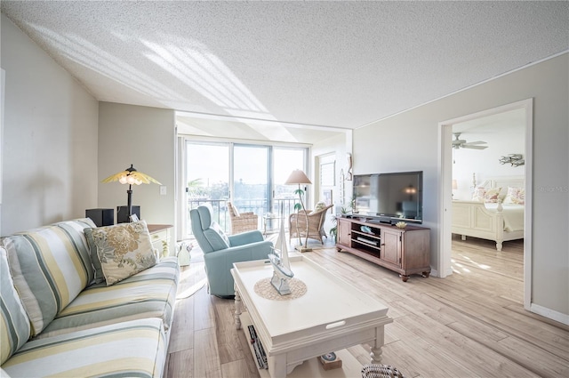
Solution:
[{"label": "balcony railing seen through the sliding glass doors", "polygon": [[[199,205],[209,204],[212,206],[212,220],[220,224],[221,229],[226,232],[230,230],[230,220],[228,213],[228,199],[209,199],[209,198],[188,198],[188,235],[192,235],[191,221],[189,219],[189,211],[195,209]],[[284,228],[288,229],[288,218],[291,213],[295,213],[294,204],[298,201],[296,198],[275,198],[271,211],[268,211],[268,199],[236,199],[233,205],[236,206],[239,213],[256,213],[259,215],[258,229],[264,230],[263,215],[269,213],[273,215],[268,220],[267,229],[274,230],[280,224],[276,219],[284,220]],[[276,218],[276,219],[275,219]]]}]

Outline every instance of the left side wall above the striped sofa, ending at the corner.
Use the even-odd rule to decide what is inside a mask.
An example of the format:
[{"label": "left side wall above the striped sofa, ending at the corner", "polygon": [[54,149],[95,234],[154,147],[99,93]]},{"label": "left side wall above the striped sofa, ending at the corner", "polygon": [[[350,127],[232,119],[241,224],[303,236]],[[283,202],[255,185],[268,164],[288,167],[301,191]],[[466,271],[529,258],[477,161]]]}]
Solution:
[{"label": "left side wall above the striped sofa, ending at the corner", "polygon": [[2,14],[2,235],[97,205],[98,102]]}]

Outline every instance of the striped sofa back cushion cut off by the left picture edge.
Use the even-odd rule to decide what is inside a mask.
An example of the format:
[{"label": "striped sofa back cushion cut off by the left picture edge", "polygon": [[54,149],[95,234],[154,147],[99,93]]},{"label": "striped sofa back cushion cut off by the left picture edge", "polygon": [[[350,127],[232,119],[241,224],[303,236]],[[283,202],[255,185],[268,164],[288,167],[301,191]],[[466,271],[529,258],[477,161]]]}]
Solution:
[{"label": "striped sofa back cushion cut off by the left picture edge", "polygon": [[[0,365],[28,341],[31,329],[26,310],[22,307],[20,296],[13,286],[6,250],[0,246]],[[4,375],[3,375],[4,376]]]}]

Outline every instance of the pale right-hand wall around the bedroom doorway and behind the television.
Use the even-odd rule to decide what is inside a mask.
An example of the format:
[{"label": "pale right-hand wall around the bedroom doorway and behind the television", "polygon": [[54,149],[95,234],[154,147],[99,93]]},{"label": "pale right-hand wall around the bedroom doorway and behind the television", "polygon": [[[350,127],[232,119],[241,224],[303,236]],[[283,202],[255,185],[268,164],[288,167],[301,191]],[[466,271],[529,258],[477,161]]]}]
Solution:
[{"label": "pale right-hand wall around the bedroom doorway and behind the television", "polygon": [[569,54],[357,129],[354,171],[424,171],[424,225],[438,266],[439,122],[533,98],[533,303],[569,315]]}]

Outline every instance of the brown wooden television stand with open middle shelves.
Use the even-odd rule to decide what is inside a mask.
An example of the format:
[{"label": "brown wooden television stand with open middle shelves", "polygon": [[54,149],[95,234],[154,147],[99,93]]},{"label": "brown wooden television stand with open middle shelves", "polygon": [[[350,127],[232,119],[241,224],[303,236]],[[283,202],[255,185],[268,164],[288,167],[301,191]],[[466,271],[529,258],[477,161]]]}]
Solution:
[{"label": "brown wooden television stand with open middle shelves", "polygon": [[429,277],[429,235],[429,229],[414,225],[399,229],[365,218],[338,218],[336,249],[397,271],[406,282],[412,274]]}]

